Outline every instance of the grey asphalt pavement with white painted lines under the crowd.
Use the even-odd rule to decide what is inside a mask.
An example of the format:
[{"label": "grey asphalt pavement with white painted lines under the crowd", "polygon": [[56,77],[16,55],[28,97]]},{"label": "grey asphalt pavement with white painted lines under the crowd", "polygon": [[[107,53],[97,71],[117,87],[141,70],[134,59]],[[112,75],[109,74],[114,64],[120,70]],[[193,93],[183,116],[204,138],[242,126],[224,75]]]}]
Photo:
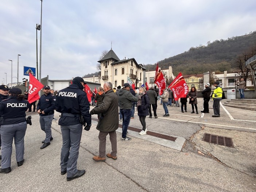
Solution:
[{"label": "grey asphalt pavement with white painted lines under the crowd", "polygon": [[[222,101],[224,102],[224,101]],[[209,102],[212,106],[213,102]],[[198,98],[198,111],[203,99]],[[79,149],[78,169],[84,176],[66,181],[60,174],[62,137],[58,120],[53,121],[51,145],[40,149],[44,133],[40,129],[39,115],[32,115],[25,136],[25,162],[18,167],[15,147],[12,152],[12,171],[0,174],[0,191],[191,191],[191,192],[255,192],[256,191],[256,111],[224,107],[221,117],[210,114],[191,114],[180,107],[168,106],[170,117],[163,117],[160,101],[158,118],[146,118],[150,132],[177,137],[168,141],[149,135],[140,136],[128,129],[131,141],[121,141],[121,128],[117,130],[117,160],[106,158],[95,162],[98,155],[97,115],[89,131],[83,130]],[[91,107],[92,109],[92,107]],[[136,115],[131,128],[142,129]],[[59,119],[59,113],[55,118]],[[121,126],[120,122],[120,126]],[[204,133],[230,137],[233,148],[203,141]],[[111,152],[109,136],[106,153]]]}]

